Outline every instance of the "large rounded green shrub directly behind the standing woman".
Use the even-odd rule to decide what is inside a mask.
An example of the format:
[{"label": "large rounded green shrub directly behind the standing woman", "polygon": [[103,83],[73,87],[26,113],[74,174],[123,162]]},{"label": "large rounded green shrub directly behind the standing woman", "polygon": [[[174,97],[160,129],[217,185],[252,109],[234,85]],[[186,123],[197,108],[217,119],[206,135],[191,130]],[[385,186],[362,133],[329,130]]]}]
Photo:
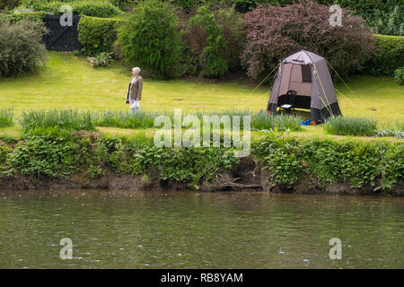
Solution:
[{"label": "large rounded green shrub directly behind the standing woman", "polygon": [[131,65],[154,78],[180,75],[182,41],[174,9],[158,0],[138,4],[119,28],[117,45]]}]

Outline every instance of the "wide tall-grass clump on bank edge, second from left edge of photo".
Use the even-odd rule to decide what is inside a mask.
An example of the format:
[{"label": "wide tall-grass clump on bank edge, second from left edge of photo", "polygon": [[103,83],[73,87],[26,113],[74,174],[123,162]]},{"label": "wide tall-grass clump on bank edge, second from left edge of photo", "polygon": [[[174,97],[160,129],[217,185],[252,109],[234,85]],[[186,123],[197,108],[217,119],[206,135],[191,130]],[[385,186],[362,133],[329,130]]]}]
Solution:
[{"label": "wide tall-grass clump on bank edge, second from left edge of photo", "polygon": [[22,112],[20,124],[24,133],[38,127],[60,127],[67,130],[95,130],[92,115],[76,109],[30,110]]}]

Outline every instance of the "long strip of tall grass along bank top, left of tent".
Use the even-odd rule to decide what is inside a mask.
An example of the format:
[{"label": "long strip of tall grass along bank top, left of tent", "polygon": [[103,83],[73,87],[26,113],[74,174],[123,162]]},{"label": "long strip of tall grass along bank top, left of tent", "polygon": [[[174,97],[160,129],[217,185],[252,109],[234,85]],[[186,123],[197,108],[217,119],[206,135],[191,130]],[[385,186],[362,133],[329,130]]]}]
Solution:
[{"label": "long strip of tall grass along bank top, left of tent", "polygon": [[[31,110],[29,112],[22,112],[20,123],[24,130],[24,133],[34,130],[38,127],[59,127],[67,130],[94,130],[95,126],[111,126],[120,128],[151,128],[154,126],[154,118],[158,116],[170,117],[171,125],[174,125],[174,113],[168,112],[152,112],[152,111],[140,111],[132,114],[130,111],[123,110],[99,110],[99,111],[77,111],[72,109],[52,109],[52,110]],[[240,119],[240,129],[244,126],[244,117],[250,116],[250,127],[252,129],[271,129],[277,127],[278,130],[299,130],[301,128],[300,123],[303,117],[292,115],[278,115],[271,116],[266,113],[253,113],[248,109],[246,110],[224,110],[224,111],[198,111],[183,112],[182,120],[187,115],[194,115],[198,117],[200,125],[204,123],[204,117],[228,117],[230,119],[231,126],[233,126],[234,116],[238,116]],[[183,124],[183,123],[182,123]],[[211,124],[213,126],[213,124]],[[224,124],[220,126],[223,128]],[[202,129],[203,126],[200,126]]]}]

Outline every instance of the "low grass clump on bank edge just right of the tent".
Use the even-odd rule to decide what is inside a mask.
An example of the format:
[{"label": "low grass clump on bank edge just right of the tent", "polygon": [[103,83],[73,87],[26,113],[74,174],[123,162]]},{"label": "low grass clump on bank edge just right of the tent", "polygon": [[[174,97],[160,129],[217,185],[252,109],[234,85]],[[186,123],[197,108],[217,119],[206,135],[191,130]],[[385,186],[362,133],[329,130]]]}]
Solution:
[{"label": "low grass clump on bank edge just right of the tent", "polygon": [[377,121],[363,117],[329,117],[324,131],[330,135],[373,136],[377,131]]}]

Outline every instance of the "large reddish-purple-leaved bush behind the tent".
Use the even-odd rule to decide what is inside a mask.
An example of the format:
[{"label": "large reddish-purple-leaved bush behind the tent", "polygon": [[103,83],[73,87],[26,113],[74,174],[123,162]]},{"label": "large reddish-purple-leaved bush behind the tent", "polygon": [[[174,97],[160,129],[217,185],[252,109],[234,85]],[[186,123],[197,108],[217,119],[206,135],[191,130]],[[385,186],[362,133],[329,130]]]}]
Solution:
[{"label": "large reddish-purple-leaved bush behind the tent", "polygon": [[311,0],[300,4],[259,6],[244,15],[246,43],[242,64],[254,79],[265,77],[279,61],[301,49],[325,57],[338,74],[360,71],[373,53],[373,35],[362,18],[342,10],[342,25],[331,26],[329,6]]}]

